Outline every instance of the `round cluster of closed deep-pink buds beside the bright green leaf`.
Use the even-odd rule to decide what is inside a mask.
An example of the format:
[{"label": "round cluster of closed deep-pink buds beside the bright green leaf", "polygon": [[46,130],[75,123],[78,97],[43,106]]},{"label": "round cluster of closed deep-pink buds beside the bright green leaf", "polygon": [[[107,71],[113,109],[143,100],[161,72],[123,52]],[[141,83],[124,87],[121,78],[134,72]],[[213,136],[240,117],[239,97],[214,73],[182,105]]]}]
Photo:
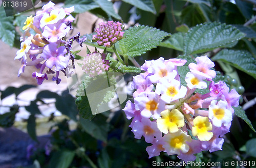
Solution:
[{"label": "round cluster of closed deep-pink buds beside the bright green leaf", "polygon": [[93,41],[101,46],[111,47],[118,40],[123,38],[124,32],[122,32],[122,23],[108,21],[99,23],[99,27],[95,30],[97,33],[93,35]]}]

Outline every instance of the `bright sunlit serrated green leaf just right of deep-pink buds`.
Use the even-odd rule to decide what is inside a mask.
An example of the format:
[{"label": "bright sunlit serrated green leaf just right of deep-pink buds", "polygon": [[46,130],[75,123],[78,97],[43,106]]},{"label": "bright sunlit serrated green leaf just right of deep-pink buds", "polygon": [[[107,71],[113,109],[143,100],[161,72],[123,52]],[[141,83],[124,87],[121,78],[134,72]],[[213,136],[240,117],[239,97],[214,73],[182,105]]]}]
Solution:
[{"label": "bright sunlit serrated green leaf just right of deep-pink buds", "polygon": [[144,25],[130,27],[124,32],[122,40],[116,44],[120,49],[120,54],[124,57],[136,57],[157,45],[169,34],[153,27]]}]

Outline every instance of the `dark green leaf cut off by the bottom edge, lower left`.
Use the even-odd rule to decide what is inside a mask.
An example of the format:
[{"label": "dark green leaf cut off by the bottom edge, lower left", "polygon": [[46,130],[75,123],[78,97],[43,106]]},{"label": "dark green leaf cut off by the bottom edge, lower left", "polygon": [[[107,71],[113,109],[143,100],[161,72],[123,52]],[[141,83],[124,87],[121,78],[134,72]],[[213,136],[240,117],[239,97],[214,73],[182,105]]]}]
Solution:
[{"label": "dark green leaf cut off by the bottom edge, lower left", "polygon": [[56,151],[53,153],[48,167],[68,168],[74,157],[74,151]]}]

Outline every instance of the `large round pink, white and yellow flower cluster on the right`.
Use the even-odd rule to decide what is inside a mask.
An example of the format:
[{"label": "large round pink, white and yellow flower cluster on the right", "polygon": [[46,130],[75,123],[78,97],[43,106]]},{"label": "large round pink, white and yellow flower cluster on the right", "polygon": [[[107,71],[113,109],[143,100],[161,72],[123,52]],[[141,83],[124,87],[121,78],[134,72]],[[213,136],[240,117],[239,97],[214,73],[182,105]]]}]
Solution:
[{"label": "large round pink, white and yellow flower cluster on the right", "polygon": [[123,110],[127,119],[133,118],[130,127],[135,138],[144,136],[152,144],[146,148],[150,158],[163,151],[184,161],[195,160],[194,154],[201,151],[222,150],[222,136],[229,132],[232,106],[239,105],[240,95],[234,89],[229,91],[225,82],[214,82],[216,72],[211,68],[215,64],[207,56],[190,63],[182,81],[177,67],[186,62],[145,61],[141,67],[145,72],[134,76],[134,103],[127,101]]}]

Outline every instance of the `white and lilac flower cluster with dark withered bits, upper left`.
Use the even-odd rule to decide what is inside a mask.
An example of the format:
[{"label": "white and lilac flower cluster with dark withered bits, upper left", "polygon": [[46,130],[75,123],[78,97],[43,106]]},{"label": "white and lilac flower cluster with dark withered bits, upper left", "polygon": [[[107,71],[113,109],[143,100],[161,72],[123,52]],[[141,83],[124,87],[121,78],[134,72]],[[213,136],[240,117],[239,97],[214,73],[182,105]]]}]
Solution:
[{"label": "white and lilac flower cluster with dark withered bits, upper left", "polygon": [[[14,58],[22,61],[18,76],[25,71],[26,66],[35,66],[39,69],[39,72],[32,74],[38,85],[48,79],[47,74],[49,73],[56,73],[52,80],[59,84],[61,81],[58,78],[59,72],[65,72],[69,60],[72,59],[70,49],[74,38],[69,39],[68,42],[63,39],[72,29],[71,22],[75,18],[70,13],[74,11],[74,7],[63,9],[55,8],[54,5],[50,1],[42,7],[42,10],[37,11],[34,17],[31,15],[26,19],[23,26],[25,33],[20,38],[22,42],[20,50],[17,51]],[[34,32],[32,33],[31,30]],[[28,55],[31,61],[27,60]],[[44,72],[46,67],[49,70]],[[52,70],[53,67],[56,72]]]}]

